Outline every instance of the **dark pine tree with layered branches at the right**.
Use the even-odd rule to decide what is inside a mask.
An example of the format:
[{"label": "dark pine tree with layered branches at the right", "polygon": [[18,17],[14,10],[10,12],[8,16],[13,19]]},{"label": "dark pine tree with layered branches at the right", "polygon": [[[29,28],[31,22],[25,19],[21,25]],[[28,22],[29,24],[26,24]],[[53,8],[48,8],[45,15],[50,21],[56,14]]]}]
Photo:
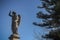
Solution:
[{"label": "dark pine tree with layered branches at the right", "polygon": [[[53,40],[60,40],[60,0],[41,0],[42,6],[38,6],[38,8],[45,10],[48,14],[39,11],[37,13],[37,18],[43,19],[42,23],[33,22],[34,25],[40,27],[51,28],[49,34],[43,36],[43,38],[51,38]],[[52,28],[57,28],[56,30],[52,30]]]}]

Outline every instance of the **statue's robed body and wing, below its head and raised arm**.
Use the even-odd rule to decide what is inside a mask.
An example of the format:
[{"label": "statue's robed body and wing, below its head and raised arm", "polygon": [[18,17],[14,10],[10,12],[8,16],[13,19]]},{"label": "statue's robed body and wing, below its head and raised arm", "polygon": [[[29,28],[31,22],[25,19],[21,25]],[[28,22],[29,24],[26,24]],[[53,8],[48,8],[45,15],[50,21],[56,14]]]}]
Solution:
[{"label": "statue's robed body and wing, below its head and raised arm", "polygon": [[17,29],[20,24],[20,15],[12,17],[12,32],[17,34]]}]

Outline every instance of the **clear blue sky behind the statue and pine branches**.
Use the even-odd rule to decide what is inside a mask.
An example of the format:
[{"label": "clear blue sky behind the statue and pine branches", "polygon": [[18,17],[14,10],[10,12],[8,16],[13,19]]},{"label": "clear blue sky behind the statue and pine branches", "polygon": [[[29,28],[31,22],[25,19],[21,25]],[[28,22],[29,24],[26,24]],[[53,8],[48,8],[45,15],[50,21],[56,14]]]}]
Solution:
[{"label": "clear blue sky behind the statue and pine branches", "polygon": [[40,0],[0,0],[0,40],[9,40],[8,37],[12,34],[11,17],[8,16],[10,10],[21,15],[18,29],[20,40],[34,40],[34,31],[39,30],[44,34],[44,28],[32,24],[35,21],[41,22],[36,18],[39,5]]}]

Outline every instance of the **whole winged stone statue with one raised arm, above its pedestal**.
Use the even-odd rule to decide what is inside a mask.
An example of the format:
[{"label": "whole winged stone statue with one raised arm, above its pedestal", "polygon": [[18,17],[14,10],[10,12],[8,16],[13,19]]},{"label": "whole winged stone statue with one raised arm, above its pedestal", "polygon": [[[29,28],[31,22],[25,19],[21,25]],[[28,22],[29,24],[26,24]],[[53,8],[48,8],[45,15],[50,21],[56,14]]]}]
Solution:
[{"label": "whole winged stone statue with one raised arm, above its pedestal", "polygon": [[18,26],[20,24],[20,20],[21,20],[21,16],[20,15],[16,15],[16,12],[12,12],[11,14],[11,11],[9,12],[9,16],[12,17],[12,33],[13,34],[18,34]]}]

